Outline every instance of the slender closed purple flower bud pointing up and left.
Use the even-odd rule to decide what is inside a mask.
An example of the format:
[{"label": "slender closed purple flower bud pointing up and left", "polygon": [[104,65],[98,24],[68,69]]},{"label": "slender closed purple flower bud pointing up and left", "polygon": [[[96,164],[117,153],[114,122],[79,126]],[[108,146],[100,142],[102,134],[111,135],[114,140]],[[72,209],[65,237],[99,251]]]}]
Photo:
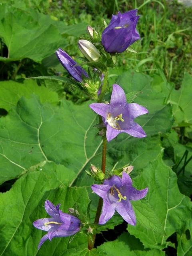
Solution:
[{"label": "slender closed purple flower bud pointing up and left", "polygon": [[58,60],[61,62],[62,66],[70,73],[70,75],[77,80],[78,82],[82,82],[82,74],[84,76],[89,77],[87,72],[74,61],[64,50],[61,48],[55,52]]}]

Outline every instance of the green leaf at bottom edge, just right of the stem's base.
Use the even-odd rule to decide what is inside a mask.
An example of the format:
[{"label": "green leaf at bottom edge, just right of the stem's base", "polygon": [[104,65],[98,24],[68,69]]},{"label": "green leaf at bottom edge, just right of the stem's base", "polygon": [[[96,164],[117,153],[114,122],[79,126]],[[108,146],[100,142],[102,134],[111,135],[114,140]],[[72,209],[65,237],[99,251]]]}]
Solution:
[{"label": "green leaf at bottom edge, just right of the stem's base", "polygon": [[108,254],[108,256],[117,256],[119,254],[121,254],[121,256],[165,255],[165,252],[156,249],[144,250],[144,246],[137,238],[125,232],[120,235],[115,241],[105,242],[98,248],[103,249]]}]

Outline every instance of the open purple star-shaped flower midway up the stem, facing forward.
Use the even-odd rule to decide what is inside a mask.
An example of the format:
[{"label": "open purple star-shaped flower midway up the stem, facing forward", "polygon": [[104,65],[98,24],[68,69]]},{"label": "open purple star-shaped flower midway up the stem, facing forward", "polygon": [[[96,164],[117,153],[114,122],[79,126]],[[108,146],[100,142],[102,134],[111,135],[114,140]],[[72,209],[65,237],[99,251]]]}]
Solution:
[{"label": "open purple star-shaped flower midway up the stem, facing forward", "polygon": [[103,117],[107,127],[108,141],[121,132],[138,138],[146,137],[146,133],[139,124],[134,122],[134,118],[148,113],[148,110],[137,103],[127,103],[124,90],[118,84],[113,84],[110,104],[92,103],[89,106]]}]

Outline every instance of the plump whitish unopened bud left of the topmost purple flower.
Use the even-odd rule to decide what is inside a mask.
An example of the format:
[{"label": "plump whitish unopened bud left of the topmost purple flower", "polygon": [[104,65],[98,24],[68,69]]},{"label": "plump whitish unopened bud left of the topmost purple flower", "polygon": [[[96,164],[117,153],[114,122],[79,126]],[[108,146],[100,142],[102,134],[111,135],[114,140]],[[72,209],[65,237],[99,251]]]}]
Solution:
[{"label": "plump whitish unopened bud left of the topmost purple flower", "polygon": [[88,40],[79,40],[78,41],[79,50],[82,54],[90,61],[97,61],[100,57],[100,53],[95,48],[95,46]]}]

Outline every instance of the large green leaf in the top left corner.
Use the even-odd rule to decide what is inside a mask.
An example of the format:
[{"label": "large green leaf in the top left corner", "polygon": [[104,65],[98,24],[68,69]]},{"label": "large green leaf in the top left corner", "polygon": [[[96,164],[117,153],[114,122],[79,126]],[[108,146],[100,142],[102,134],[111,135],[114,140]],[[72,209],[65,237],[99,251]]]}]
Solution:
[{"label": "large green leaf in the top left corner", "polygon": [[[0,6],[0,12],[2,9],[4,6]],[[54,21],[35,10],[7,10],[0,20],[0,37],[8,48],[8,56],[0,57],[4,62],[24,58],[40,62],[58,47],[66,46]]]}]

